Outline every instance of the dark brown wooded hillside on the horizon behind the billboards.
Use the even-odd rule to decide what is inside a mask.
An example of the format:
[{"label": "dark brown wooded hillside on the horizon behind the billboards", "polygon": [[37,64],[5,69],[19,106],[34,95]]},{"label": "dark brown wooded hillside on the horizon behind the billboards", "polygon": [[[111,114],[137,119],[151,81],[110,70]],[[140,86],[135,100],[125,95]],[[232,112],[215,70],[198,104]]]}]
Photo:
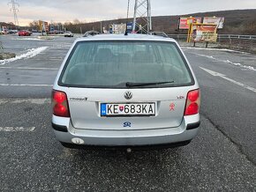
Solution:
[{"label": "dark brown wooded hillside on the horizon behind the billboards", "polygon": [[[233,34],[255,34],[256,35],[256,10],[232,10],[232,11],[213,11],[213,12],[198,12],[188,15],[175,16],[157,16],[152,17],[152,25],[154,31],[163,31],[165,33],[177,33],[177,20],[180,17],[225,17],[224,27],[218,33],[233,33]],[[132,18],[128,19],[129,22]],[[125,23],[126,19],[114,19],[102,21],[102,26],[106,29],[110,24]],[[87,23],[78,25],[69,25],[67,28],[74,33],[80,33],[88,30],[101,31],[101,23]],[[178,33],[186,33],[186,31],[179,31]]]}]

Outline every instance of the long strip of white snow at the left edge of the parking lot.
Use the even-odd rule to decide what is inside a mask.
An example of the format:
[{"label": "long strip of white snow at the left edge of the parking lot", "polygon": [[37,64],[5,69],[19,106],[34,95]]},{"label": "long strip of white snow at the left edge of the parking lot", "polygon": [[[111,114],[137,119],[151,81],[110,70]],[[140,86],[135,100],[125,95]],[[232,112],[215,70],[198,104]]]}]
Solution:
[{"label": "long strip of white snow at the left edge of the parking lot", "polygon": [[5,63],[11,63],[11,62],[17,61],[19,59],[28,59],[28,58],[34,57],[35,55],[40,54],[42,51],[46,50],[47,48],[48,47],[28,49],[26,54],[15,56],[15,57],[13,57],[11,59],[0,60],[0,65],[4,65]]}]

